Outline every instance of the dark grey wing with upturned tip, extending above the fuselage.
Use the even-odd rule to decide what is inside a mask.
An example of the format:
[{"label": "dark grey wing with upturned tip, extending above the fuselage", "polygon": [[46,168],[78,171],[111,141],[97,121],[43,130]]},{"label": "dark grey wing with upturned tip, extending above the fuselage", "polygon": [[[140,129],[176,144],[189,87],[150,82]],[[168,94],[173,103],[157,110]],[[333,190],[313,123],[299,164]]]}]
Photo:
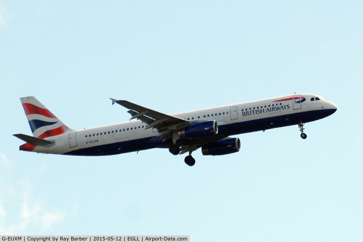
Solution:
[{"label": "dark grey wing with upturned tip, extending above the fuselage", "polygon": [[148,124],[146,129],[156,128],[159,132],[158,136],[162,136],[165,140],[172,137],[173,130],[179,130],[191,124],[188,120],[164,114],[129,101],[110,99],[112,100],[112,104],[117,103],[129,108],[130,110],[127,112],[132,115],[131,119],[139,119]]}]

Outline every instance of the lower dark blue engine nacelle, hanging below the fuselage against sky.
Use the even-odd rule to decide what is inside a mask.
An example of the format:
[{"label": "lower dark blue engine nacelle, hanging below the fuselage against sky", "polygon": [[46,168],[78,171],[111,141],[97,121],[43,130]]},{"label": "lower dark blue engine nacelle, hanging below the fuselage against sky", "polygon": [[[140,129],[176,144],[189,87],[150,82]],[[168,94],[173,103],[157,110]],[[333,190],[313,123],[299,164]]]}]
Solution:
[{"label": "lower dark blue engine nacelle, hanging below the fuselage against sky", "polygon": [[236,153],[241,149],[239,138],[227,137],[202,147],[203,155],[227,155]]}]

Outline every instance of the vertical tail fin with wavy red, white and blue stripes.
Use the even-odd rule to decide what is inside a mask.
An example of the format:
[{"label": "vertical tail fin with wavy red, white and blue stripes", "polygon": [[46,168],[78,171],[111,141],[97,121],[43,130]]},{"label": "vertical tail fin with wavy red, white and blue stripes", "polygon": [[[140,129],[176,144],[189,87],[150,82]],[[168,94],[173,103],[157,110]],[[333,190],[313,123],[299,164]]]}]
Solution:
[{"label": "vertical tail fin with wavy red, white and blue stripes", "polygon": [[52,112],[34,97],[20,98],[26,118],[28,119],[33,136],[44,139],[50,136],[71,132]]}]

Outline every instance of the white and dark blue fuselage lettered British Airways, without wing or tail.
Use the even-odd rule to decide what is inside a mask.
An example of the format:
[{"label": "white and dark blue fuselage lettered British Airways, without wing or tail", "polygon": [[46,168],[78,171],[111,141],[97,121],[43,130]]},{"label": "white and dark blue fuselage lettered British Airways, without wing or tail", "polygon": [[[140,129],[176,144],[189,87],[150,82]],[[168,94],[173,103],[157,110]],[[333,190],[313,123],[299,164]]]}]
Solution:
[{"label": "white and dark blue fuselage lettered British Airways, without wing or tail", "polygon": [[[298,122],[311,122],[329,116],[336,109],[334,103],[318,95],[297,94],[183,112],[173,116],[195,121],[216,120],[220,130],[219,135],[227,137],[298,124]],[[283,119],[280,119],[282,117]],[[46,138],[55,143],[38,145],[33,151],[69,155],[111,155],[159,147],[158,144],[150,143],[152,138],[158,136],[158,131],[154,128],[145,129],[146,126],[147,124],[137,120],[66,132]]]}]

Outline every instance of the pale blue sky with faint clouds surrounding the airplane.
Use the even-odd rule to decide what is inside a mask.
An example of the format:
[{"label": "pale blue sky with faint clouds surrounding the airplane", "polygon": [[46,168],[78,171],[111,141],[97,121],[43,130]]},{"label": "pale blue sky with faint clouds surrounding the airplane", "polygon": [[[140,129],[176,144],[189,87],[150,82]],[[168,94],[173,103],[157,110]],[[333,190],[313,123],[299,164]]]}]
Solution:
[{"label": "pale blue sky with faint clouds surrounding the airplane", "polygon": [[[362,241],[362,1],[0,1],[0,234]],[[297,93],[338,111],[226,156],[20,152],[35,96],[73,129]]]}]

